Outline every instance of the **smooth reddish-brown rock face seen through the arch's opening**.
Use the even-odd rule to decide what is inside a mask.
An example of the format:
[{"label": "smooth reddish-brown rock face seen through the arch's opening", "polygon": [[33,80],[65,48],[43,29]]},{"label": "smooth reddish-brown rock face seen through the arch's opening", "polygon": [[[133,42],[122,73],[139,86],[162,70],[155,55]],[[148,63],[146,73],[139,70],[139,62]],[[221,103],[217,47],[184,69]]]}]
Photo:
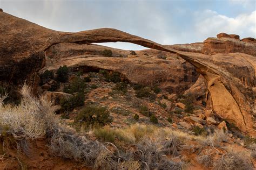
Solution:
[{"label": "smooth reddish-brown rock face seen through the arch's opening", "polygon": [[[112,57],[104,56],[102,53],[104,49],[111,50]],[[170,56],[169,60],[163,60],[144,55],[143,52],[137,53],[137,55],[133,55],[133,58],[127,58],[130,51],[122,49],[99,45],[60,43],[46,49],[46,64],[40,73],[46,69],[56,70],[63,65],[73,70],[79,68],[84,72],[107,69],[121,73],[131,83],[144,86],[158,85],[170,93],[181,93],[198,79],[199,74],[196,72],[196,68],[183,59],[163,54]],[[156,50],[151,52],[147,50],[147,53],[152,56],[161,54],[158,54]]]}]

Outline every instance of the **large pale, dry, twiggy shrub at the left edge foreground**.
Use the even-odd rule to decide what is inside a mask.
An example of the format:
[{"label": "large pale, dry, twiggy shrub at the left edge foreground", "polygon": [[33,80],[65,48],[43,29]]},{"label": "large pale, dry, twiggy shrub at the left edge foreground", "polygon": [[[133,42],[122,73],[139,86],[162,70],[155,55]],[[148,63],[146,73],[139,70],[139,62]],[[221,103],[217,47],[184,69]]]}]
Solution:
[{"label": "large pale, dry, twiggy shrub at the left edge foreground", "polygon": [[6,134],[14,139],[17,152],[28,154],[28,141],[50,135],[51,131],[56,130],[58,123],[54,117],[55,107],[46,97],[33,97],[26,85],[23,86],[21,95],[21,103],[12,106],[4,105],[6,96],[0,95],[0,128],[8,128]]}]

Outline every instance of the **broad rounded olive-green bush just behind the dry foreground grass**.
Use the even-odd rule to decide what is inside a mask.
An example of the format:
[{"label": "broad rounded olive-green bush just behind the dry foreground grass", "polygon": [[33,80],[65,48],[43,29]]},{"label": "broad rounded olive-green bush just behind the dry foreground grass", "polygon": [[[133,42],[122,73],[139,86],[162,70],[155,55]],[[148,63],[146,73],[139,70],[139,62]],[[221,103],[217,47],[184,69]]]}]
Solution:
[{"label": "broad rounded olive-green bush just behind the dry foreground grass", "polygon": [[104,107],[87,105],[76,117],[76,122],[83,122],[86,125],[106,125],[112,122],[109,111]]}]

